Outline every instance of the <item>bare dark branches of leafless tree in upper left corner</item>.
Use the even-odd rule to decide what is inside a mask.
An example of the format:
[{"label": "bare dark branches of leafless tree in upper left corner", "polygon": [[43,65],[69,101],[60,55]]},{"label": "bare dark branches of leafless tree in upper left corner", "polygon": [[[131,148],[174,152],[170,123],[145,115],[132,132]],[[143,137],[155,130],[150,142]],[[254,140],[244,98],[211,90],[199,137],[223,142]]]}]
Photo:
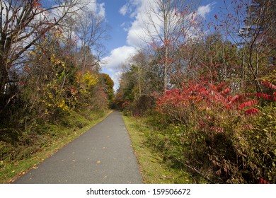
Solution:
[{"label": "bare dark branches of leafless tree in upper left corner", "polygon": [[40,0],[0,0],[0,93],[11,80],[9,71],[19,64],[24,53],[87,3],[57,0],[53,6],[45,8]]}]

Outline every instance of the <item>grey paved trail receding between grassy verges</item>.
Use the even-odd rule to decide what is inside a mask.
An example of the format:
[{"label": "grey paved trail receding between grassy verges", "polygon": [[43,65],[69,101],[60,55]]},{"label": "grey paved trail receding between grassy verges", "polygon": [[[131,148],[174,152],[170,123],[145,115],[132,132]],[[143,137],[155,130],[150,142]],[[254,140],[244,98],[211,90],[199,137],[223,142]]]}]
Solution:
[{"label": "grey paved trail receding between grassy verges", "polygon": [[119,112],[54,153],[14,183],[142,183]]}]

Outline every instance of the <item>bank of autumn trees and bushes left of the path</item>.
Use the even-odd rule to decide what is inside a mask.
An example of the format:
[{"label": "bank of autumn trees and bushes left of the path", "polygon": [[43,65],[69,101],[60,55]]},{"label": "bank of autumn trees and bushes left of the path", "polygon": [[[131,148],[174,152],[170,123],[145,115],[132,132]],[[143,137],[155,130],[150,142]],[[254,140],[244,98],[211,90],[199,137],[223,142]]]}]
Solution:
[{"label": "bank of autumn trees and bushes left of the path", "polygon": [[[113,94],[110,77],[105,75],[104,85],[101,81],[95,45],[79,46],[81,38],[67,24],[77,23],[74,18],[88,11],[91,1],[55,1],[47,7],[42,2],[0,1],[0,158],[5,163],[28,158],[56,136],[102,116]],[[86,33],[100,45],[98,34],[105,31],[98,30]],[[85,61],[79,55],[84,48]]]}]

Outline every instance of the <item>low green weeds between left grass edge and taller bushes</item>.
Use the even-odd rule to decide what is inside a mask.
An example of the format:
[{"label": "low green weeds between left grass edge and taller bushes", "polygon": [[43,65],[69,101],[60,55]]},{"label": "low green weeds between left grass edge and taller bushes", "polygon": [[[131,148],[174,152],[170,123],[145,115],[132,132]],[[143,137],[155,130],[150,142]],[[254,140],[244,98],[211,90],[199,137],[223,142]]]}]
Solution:
[{"label": "low green weeds between left grass edge and taller bushes", "polygon": [[[2,163],[21,161],[30,158],[45,147],[51,146],[54,141],[75,133],[86,127],[94,120],[103,117],[104,110],[82,110],[67,112],[54,122],[34,119],[27,129],[16,127],[1,128],[0,158]],[[18,126],[18,123],[16,123]],[[1,126],[3,127],[3,125]],[[4,134],[4,132],[6,132]],[[1,168],[1,167],[0,167]]]}]

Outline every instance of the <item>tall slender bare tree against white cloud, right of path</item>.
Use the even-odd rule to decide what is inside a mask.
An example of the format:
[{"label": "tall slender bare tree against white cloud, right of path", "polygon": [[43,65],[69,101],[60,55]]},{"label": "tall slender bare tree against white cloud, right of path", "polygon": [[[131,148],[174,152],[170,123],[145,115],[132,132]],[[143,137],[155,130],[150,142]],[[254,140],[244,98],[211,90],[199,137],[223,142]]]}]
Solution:
[{"label": "tall slender bare tree against white cloud, right of path", "polygon": [[144,21],[145,33],[154,42],[163,48],[163,86],[166,91],[169,84],[171,67],[170,54],[176,49],[183,37],[191,28],[190,17],[195,1],[183,0],[154,0],[150,1]]}]

